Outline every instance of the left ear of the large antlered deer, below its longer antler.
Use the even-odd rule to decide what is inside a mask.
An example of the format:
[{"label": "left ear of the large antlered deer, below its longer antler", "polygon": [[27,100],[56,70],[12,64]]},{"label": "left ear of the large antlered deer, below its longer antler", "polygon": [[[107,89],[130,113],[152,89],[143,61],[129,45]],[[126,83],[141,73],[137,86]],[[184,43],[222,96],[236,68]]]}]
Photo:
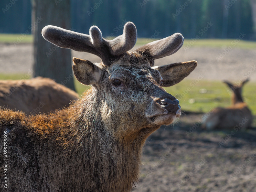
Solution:
[{"label": "left ear of the large antlered deer, below its longer antler", "polygon": [[91,61],[73,58],[72,69],[77,80],[84,85],[96,84],[101,77],[101,69]]}]

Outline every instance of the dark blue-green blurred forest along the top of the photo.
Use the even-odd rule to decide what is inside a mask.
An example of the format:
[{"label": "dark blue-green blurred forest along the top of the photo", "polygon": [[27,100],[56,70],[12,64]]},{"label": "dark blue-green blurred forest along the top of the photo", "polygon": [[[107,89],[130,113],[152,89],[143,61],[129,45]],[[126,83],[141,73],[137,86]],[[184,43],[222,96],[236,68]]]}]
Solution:
[{"label": "dark blue-green blurred forest along the top of the photo", "polygon": [[[53,0],[56,4],[65,0]],[[253,27],[253,0],[71,0],[71,27],[80,33],[89,33],[97,25],[103,36],[122,34],[122,24],[132,21],[138,37],[157,38],[180,32],[185,38],[194,38],[207,23],[204,38],[237,38],[255,40]],[[15,3],[11,3],[15,2]],[[9,9],[6,5],[12,4]],[[30,0],[1,0],[0,33],[25,33],[31,26]],[[7,7],[8,8],[8,7]],[[6,10],[6,11],[5,11]],[[125,21],[125,22],[123,22]]]}]

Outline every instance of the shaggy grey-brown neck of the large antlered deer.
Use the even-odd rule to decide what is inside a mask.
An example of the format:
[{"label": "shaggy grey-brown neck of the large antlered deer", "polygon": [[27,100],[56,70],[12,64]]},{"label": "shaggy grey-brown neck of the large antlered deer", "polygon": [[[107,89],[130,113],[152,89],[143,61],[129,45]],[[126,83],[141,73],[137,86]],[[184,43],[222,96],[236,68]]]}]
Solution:
[{"label": "shaggy grey-brown neck of the large antlered deer", "polygon": [[[136,182],[145,140],[159,127],[144,127],[137,132],[124,136],[118,130],[138,129],[138,127],[129,127],[132,124],[121,126],[113,121],[106,122],[105,118],[106,116],[109,118],[109,113],[111,112],[106,111],[106,114],[102,112],[101,105],[104,105],[102,101],[101,95],[89,90],[82,99],[67,109],[69,110],[68,113],[74,114],[74,118],[71,121],[77,129],[76,141],[83,140],[85,146],[81,147],[81,149],[89,149],[94,153],[94,159],[98,159],[99,162],[102,162],[102,159],[106,161],[104,164],[114,162],[111,166],[116,169],[116,173],[129,175],[129,180],[125,182]],[[120,165],[121,167],[126,167],[126,173],[117,168]],[[125,176],[123,179],[127,180],[127,177]]]}]

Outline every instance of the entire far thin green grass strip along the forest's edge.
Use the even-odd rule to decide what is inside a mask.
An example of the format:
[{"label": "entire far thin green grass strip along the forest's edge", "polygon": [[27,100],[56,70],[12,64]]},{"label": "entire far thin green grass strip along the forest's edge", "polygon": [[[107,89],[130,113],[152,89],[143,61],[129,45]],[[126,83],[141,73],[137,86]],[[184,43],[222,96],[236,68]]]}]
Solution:
[{"label": "entire far thin green grass strip along the forest's edge", "polygon": [[[112,37],[114,38],[114,37]],[[112,39],[108,38],[108,39]],[[33,36],[32,35],[26,35],[24,37],[22,34],[0,34],[0,43],[13,43],[14,41],[17,42],[17,39],[22,39],[21,43],[32,43]],[[138,38],[136,45],[142,46],[145,45],[148,42],[152,42],[154,40],[158,39],[151,39],[151,38]],[[195,42],[193,42],[191,39],[185,39],[184,45],[187,46],[189,43],[193,44],[192,46],[201,46],[201,47],[218,47],[218,48],[226,48],[228,46],[231,46],[232,48],[246,48],[246,49],[256,49],[256,42],[255,41],[244,41],[240,40],[235,46],[232,44],[235,43],[234,39],[197,39]]]}]

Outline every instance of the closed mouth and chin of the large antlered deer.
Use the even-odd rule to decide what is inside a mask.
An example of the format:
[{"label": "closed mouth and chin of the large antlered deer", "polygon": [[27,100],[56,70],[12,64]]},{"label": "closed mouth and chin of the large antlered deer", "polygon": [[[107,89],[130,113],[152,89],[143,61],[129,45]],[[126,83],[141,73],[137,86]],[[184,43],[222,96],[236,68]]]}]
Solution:
[{"label": "closed mouth and chin of the large antlered deer", "polygon": [[176,114],[174,113],[164,113],[164,114],[157,114],[151,117],[148,117],[148,119],[157,125],[169,125],[174,122],[176,118],[178,118],[181,115],[181,109],[176,111]]}]

